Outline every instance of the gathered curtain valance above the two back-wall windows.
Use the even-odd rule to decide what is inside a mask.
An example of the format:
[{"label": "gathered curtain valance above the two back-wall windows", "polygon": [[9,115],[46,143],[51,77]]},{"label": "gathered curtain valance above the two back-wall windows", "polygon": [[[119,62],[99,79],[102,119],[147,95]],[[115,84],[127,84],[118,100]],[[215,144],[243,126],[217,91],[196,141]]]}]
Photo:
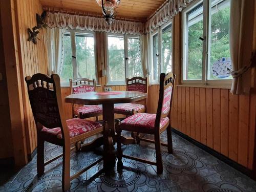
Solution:
[{"label": "gathered curtain valance above the two back-wall windows", "polygon": [[67,13],[47,12],[46,24],[50,28],[80,29],[88,31],[103,31],[122,34],[143,34],[144,24],[126,20],[114,20],[109,26],[102,17],[71,15]]}]

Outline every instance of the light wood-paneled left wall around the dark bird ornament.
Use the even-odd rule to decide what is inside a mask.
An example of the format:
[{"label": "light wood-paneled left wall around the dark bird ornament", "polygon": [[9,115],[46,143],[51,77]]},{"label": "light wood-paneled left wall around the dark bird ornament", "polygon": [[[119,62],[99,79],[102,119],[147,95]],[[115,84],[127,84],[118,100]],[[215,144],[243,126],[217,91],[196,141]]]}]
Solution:
[{"label": "light wood-paneled left wall around the dark bird ornament", "polygon": [[46,29],[40,30],[37,45],[28,41],[28,28],[36,25],[36,13],[42,12],[42,6],[38,0],[15,1],[16,3],[16,22],[17,22],[17,41],[19,52],[20,78],[23,89],[23,105],[25,116],[25,130],[27,151],[31,154],[36,146],[36,127],[29,103],[26,76],[35,73],[47,74],[47,49],[46,49]]}]

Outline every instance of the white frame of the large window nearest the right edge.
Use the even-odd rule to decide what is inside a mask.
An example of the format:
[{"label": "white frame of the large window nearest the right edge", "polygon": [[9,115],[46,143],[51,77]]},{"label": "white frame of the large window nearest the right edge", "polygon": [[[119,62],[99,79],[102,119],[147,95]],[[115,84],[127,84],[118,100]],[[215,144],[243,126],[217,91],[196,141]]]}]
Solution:
[{"label": "white frame of the large window nearest the right edge", "polygon": [[[231,79],[208,79],[208,67],[210,63],[210,19],[211,19],[211,2],[215,2],[215,4],[221,2],[222,0],[196,0],[189,4],[187,8],[185,8],[182,12],[181,18],[181,32],[182,32],[182,42],[181,42],[181,50],[182,50],[182,68],[181,68],[181,83],[182,84],[196,84],[196,85],[204,85],[204,86],[230,86],[232,80]],[[224,0],[228,1],[229,0]],[[184,79],[184,67],[186,66],[186,48],[185,43],[187,42],[187,18],[186,14],[194,9],[199,4],[203,3],[203,58],[202,58],[202,79],[201,80],[189,80]]]}]

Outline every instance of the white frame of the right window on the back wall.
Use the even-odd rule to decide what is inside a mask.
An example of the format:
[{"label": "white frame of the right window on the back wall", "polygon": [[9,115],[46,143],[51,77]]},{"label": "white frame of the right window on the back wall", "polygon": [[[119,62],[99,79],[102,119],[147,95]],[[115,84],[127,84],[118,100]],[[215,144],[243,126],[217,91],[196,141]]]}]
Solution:
[{"label": "white frame of the right window on the back wall", "polygon": [[[123,37],[123,41],[124,41],[124,73],[125,73],[125,79],[123,81],[110,81],[110,65],[109,65],[109,42],[108,42],[108,37],[109,36],[116,36],[116,37]],[[118,34],[118,33],[106,33],[106,69],[107,69],[107,78],[108,78],[108,83],[106,84],[108,85],[126,85],[126,77],[128,77],[128,65],[129,65],[129,59],[125,59],[125,58],[129,58],[128,55],[128,38],[138,38],[140,39],[139,35],[128,35],[128,34]],[[141,46],[141,45],[140,45]],[[141,49],[140,49],[140,54],[141,54]],[[141,59],[140,59],[140,64],[141,64]]]}]

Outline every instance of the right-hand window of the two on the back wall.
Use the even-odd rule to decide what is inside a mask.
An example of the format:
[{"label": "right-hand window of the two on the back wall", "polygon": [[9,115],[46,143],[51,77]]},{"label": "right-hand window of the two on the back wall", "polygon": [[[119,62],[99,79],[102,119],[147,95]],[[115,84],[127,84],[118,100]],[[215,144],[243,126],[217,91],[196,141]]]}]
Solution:
[{"label": "right-hand window of the two on the back wall", "polygon": [[125,79],[143,76],[138,36],[108,34],[108,82],[125,83]]}]

